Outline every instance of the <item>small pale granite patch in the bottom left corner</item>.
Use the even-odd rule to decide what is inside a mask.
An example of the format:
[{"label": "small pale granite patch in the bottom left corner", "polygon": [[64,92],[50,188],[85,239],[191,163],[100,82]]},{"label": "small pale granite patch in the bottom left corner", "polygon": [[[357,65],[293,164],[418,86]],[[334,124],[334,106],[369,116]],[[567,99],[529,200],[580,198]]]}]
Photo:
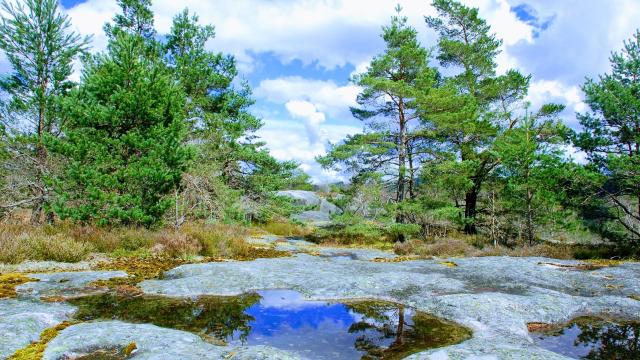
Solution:
[{"label": "small pale granite patch in the bottom left corner", "polygon": [[0,359],[40,338],[40,333],[69,318],[75,307],[31,300],[0,300]]}]

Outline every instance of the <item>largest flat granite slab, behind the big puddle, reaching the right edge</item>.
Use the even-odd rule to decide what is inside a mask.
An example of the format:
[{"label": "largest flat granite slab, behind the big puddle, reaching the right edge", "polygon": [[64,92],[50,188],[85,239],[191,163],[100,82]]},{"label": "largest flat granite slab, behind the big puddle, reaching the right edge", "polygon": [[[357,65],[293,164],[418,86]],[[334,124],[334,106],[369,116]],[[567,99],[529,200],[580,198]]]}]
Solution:
[{"label": "largest flat granite slab, behind the big puddle, reaching the right edge", "polygon": [[[348,251],[348,250],[347,250]],[[344,261],[299,254],[250,262],[183,265],[141,283],[167,296],[237,295],[293,289],[308,299],[397,301],[473,330],[462,344],[412,359],[563,359],[539,348],[528,322],[563,322],[587,314],[640,319],[640,263],[598,270],[577,261],[484,257],[405,262]]]}]

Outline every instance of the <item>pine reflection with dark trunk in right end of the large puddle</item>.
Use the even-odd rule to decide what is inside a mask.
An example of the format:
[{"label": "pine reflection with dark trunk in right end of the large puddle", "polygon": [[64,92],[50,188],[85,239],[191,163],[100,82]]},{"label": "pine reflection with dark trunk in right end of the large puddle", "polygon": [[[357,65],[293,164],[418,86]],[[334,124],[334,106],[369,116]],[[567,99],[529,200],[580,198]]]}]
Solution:
[{"label": "pine reflection with dark trunk in right end of the large puddle", "polygon": [[349,328],[358,333],[355,348],[363,359],[402,359],[412,353],[455,344],[471,336],[469,330],[399,304],[361,302],[347,307],[362,315]]}]

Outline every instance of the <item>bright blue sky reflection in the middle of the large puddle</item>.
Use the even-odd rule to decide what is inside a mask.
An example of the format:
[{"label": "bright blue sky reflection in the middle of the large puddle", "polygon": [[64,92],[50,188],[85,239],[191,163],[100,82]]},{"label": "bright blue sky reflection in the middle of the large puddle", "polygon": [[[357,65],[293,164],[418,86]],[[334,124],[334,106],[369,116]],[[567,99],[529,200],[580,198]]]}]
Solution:
[{"label": "bright blue sky reflection in the middle of the large puddle", "polygon": [[[260,292],[262,300],[245,312],[255,318],[245,345],[269,345],[297,351],[313,359],[360,359],[365,353],[354,344],[363,335],[389,345],[393,339],[379,339],[374,330],[349,333],[349,327],[363,317],[346,305],[305,301],[290,290]],[[241,344],[234,336],[232,344]]]}]

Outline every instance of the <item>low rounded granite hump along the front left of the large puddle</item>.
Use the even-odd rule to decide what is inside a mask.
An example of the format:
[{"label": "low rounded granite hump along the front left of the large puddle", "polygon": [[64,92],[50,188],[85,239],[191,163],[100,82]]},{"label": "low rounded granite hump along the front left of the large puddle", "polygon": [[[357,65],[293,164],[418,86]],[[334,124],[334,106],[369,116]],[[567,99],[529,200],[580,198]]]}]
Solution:
[{"label": "low rounded granite hump along the front left of the large puddle", "polygon": [[120,321],[70,326],[49,343],[43,359],[74,358],[99,349],[123,349],[131,343],[136,344],[135,359],[301,359],[267,346],[216,346],[189,332]]}]

